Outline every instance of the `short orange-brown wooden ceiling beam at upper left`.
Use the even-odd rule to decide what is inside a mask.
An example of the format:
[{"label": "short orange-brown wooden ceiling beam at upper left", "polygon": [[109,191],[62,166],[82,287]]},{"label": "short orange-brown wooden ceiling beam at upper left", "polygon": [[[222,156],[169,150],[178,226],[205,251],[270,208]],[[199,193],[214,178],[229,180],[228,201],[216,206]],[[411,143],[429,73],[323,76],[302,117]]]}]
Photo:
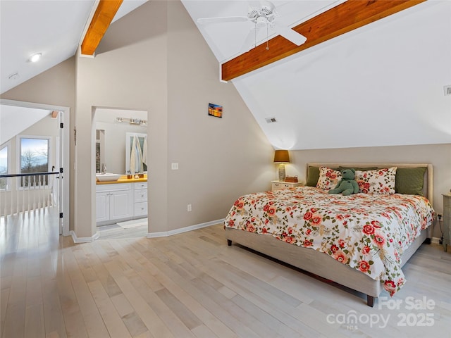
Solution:
[{"label": "short orange-brown wooden ceiling beam at upper left", "polygon": [[100,0],[82,42],[81,54],[94,55],[123,0]]}]

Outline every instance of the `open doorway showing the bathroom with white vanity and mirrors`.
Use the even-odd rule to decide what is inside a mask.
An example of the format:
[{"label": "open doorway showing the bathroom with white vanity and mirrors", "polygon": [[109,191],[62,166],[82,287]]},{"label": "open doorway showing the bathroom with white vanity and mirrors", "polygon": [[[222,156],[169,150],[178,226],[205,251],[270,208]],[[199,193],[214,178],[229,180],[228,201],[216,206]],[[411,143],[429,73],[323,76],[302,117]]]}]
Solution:
[{"label": "open doorway showing the bathroom with white vanity and mirrors", "polygon": [[147,237],[147,111],[93,109],[99,238]]}]

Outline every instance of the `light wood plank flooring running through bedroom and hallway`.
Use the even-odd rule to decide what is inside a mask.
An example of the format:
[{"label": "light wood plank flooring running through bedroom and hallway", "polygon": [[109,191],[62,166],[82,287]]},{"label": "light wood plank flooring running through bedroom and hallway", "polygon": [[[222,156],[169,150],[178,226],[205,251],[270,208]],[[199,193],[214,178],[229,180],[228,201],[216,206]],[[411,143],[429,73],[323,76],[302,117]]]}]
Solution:
[{"label": "light wood plank flooring running through bedroom and hallway", "polygon": [[57,232],[50,213],[1,220],[1,337],[451,337],[451,253],[437,245],[421,246],[403,289],[369,308],[227,246],[222,225],[87,244]]}]

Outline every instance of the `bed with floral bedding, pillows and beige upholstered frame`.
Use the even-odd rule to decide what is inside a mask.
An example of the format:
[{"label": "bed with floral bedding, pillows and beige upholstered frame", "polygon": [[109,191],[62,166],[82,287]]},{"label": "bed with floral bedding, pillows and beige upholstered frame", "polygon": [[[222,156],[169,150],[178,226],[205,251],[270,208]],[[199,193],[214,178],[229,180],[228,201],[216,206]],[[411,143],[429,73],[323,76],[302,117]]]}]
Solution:
[{"label": "bed with floral bedding, pillows and beige upholstered frame", "polygon": [[[359,193],[328,194],[342,168]],[[326,180],[325,180],[326,178]],[[224,228],[233,242],[366,294],[373,306],[406,282],[402,265],[431,242],[433,167],[421,163],[309,163],[304,187],[240,196]]]}]

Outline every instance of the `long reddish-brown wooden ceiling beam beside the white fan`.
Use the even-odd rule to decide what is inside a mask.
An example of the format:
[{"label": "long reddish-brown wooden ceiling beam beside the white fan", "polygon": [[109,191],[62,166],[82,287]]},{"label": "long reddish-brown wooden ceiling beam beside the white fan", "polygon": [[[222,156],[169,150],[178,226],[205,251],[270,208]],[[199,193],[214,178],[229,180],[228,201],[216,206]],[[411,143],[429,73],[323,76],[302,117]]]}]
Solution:
[{"label": "long reddish-brown wooden ceiling beam beside the white fan", "polygon": [[260,44],[247,53],[223,63],[222,80],[232,80],[424,1],[426,0],[348,0],[293,27],[296,32],[307,37],[307,42],[301,46],[278,35],[269,40],[268,50],[266,44]]}]

